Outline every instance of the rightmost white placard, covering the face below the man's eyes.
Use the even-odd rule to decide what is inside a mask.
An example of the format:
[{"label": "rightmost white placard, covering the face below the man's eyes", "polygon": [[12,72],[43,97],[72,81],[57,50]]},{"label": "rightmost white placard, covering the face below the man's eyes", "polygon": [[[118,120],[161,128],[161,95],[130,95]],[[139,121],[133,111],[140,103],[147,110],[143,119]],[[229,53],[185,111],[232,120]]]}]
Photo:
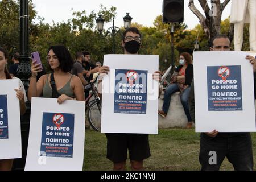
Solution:
[{"label": "rightmost white placard, covering the face below the man's eyes", "polygon": [[256,131],[253,67],[246,55],[194,52],[196,132]]}]

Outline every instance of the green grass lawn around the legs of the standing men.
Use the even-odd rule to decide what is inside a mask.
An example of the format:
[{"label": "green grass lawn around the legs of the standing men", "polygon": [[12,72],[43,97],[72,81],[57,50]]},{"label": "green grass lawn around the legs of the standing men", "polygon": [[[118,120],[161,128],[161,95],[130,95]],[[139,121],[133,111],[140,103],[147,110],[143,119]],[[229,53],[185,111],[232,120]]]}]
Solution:
[{"label": "green grass lawn around the legs of the standing men", "polygon": [[[254,166],[256,161],[256,133],[251,133],[253,139]],[[159,129],[158,135],[150,135],[151,157],[144,160],[146,170],[200,170],[199,150],[200,134],[195,129]],[[106,159],[105,134],[86,130],[84,170],[112,170],[113,163]],[[127,170],[130,163],[127,160]],[[233,170],[227,159],[221,165],[221,170]]]}]

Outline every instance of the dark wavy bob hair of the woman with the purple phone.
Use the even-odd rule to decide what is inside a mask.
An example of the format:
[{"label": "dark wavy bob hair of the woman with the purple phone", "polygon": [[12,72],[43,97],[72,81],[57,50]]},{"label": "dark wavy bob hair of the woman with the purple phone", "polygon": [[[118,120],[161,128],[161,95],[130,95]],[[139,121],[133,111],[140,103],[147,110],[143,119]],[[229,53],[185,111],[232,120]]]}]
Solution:
[{"label": "dark wavy bob hair of the woman with the purple phone", "polygon": [[68,49],[65,46],[51,46],[48,49],[47,55],[49,51],[52,50],[55,55],[58,57],[58,60],[60,62],[60,68],[63,72],[69,72],[73,68],[73,60],[71,58],[71,55],[68,51]]}]

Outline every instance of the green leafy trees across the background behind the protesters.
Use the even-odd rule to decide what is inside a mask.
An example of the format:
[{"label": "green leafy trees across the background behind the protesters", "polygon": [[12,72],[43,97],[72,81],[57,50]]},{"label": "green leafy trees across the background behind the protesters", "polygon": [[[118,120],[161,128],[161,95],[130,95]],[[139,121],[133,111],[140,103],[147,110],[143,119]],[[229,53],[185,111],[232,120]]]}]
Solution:
[{"label": "green leafy trees across the background behind the protesters", "polygon": [[[201,0],[200,0],[201,1]],[[201,1],[203,2],[203,1]],[[227,2],[227,1],[226,1]],[[47,65],[46,57],[49,46],[54,44],[63,44],[75,57],[77,51],[89,51],[92,59],[101,61],[105,54],[112,53],[112,36],[106,34],[106,30],[100,34],[96,30],[96,17],[102,14],[106,22],[110,22],[116,14],[117,9],[111,7],[106,9],[100,5],[101,9],[97,13],[94,11],[89,14],[86,11],[77,11],[73,13],[73,17],[67,22],[57,22],[49,25],[44,19],[37,16],[34,5],[30,0],[30,51],[39,51],[42,63]],[[39,23],[34,23],[35,18],[39,19]],[[206,18],[205,18],[205,21]],[[230,31],[229,19],[221,21],[220,32],[228,33]],[[139,51],[140,54],[159,55],[159,69],[165,70],[171,64],[171,35],[170,24],[162,22],[162,15],[154,20],[153,27],[146,27],[142,24],[133,22],[132,26],[137,27],[142,34],[142,44]],[[249,30],[246,25],[243,43],[243,49],[249,47]],[[174,28],[174,63],[181,52],[189,52],[192,54],[194,42],[199,40],[201,51],[209,50],[209,36],[205,34],[205,28],[198,24],[193,30],[187,30],[184,23],[175,24]],[[123,53],[121,46],[122,33],[124,28],[115,36],[116,53]],[[9,50],[9,55],[15,50],[19,50],[19,3],[14,0],[0,0],[0,40],[1,46]],[[167,60],[167,61],[166,61]]]}]

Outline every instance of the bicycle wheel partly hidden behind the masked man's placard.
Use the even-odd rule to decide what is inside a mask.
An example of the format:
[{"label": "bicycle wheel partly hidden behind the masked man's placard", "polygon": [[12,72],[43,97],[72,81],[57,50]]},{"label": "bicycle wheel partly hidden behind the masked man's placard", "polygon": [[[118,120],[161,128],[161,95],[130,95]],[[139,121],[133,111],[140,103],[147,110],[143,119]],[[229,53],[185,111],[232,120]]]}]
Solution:
[{"label": "bicycle wheel partly hidden behind the masked man's placard", "polygon": [[96,99],[88,104],[88,120],[93,130],[101,131],[101,101]]}]

